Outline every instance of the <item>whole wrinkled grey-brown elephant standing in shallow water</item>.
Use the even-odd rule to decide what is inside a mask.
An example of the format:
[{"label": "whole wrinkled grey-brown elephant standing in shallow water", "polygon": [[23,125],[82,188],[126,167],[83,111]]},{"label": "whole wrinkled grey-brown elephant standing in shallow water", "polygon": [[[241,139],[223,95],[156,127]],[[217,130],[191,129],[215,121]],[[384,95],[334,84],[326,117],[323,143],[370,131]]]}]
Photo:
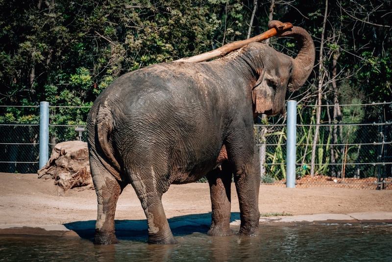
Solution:
[{"label": "whole wrinkled grey-brown elephant standing in shallow water", "polygon": [[[274,26],[273,24],[271,26]],[[204,63],[171,62],[119,77],[88,116],[90,166],[98,196],[95,243],[116,243],[117,200],[132,184],[148,222],[148,242],[176,243],[161,198],[171,184],[207,175],[212,202],[208,235],[231,235],[232,174],[240,202],[240,235],[259,235],[259,157],[253,118],[282,113],[286,88],[309,76],[315,49],[294,27],[293,58],[260,43]]]}]

